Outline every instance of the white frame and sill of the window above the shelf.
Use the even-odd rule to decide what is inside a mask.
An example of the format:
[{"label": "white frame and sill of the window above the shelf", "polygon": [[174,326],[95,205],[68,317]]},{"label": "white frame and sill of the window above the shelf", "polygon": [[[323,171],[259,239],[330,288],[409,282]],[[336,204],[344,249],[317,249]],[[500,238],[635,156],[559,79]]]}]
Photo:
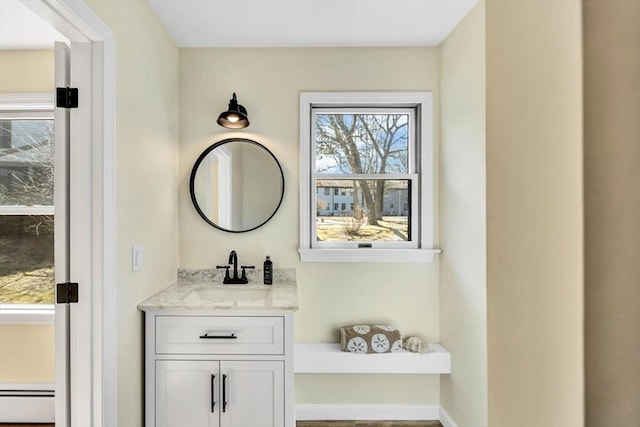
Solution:
[{"label": "white frame and sill of the window above the shelf", "polygon": [[[416,168],[419,173],[417,247],[334,248],[315,247],[312,229],[315,183],[312,152],[313,108],[411,108],[416,111]],[[431,92],[301,92],[300,93],[300,246],[302,262],[432,262],[440,253],[434,245],[434,141],[433,94]],[[350,176],[343,178],[349,179]],[[387,179],[392,179],[389,176]],[[414,186],[415,187],[415,186]],[[416,195],[412,195],[417,200]]]}]

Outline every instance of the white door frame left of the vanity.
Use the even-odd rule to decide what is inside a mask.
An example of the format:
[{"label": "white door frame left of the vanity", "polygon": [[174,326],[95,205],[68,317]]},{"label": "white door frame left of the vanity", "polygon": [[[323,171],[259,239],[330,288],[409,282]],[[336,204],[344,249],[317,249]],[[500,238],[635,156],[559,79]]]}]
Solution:
[{"label": "white door frame left of the vanity", "polygon": [[[77,165],[74,176],[74,180],[86,184],[78,185],[74,191],[81,194],[74,196],[91,201],[87,206],[76,206],[86,222],[85,229],[91,233],[82,243],[90,249],[89,267],[82,274],[90,278],[90,283],[84,285],[89,286],[86,293],[90,301],[85,309],[79,310],[77,321],[83,325],[78,331],[81,340],[70,350],[71,360],[79,364],[81,372],[90,374],[74,378],[73,369],[70,370],[72,387],[77,389],[71,395],[71,419],[77,425],[117,425],[115,35],[84,1],[21,1],[70,41],[87,43],[90,49],[91,65],[74,68],[72,61],[71,69],[73,75],[91,87],[81,95],[81,101],[89,108],[75,112],[88,124],[91,161]],[[71,279],[74,280],[73,276]],[[66,419],[64,424],[70,421]]]}]

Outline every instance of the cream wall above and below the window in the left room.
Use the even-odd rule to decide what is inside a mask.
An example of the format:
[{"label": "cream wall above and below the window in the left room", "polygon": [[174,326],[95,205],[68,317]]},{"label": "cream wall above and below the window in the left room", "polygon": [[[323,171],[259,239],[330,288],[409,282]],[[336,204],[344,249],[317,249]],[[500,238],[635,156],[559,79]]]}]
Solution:
[{"label": "cream wall above and below the window in the left room", "polygon": [[[46,92],[53,92],[52,51],[0,50],[0,93]],[[0,325],[0,382],[54,382],[54,362],[53,326]]]}]

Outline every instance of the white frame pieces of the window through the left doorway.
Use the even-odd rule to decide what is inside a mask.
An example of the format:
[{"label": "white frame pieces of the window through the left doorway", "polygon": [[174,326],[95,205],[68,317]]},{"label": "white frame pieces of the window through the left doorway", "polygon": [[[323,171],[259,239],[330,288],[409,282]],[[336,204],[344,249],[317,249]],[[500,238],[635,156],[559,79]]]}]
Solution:
[{"label": "white frame pieces of the window through the left doorway", "polygon": [[[53,93],[0,94],[0,118],[53,119]],[[53,206],[0,206],[0,215],[53,215]],[[54,304],[0,304],[0,324],[51,325]]]}]

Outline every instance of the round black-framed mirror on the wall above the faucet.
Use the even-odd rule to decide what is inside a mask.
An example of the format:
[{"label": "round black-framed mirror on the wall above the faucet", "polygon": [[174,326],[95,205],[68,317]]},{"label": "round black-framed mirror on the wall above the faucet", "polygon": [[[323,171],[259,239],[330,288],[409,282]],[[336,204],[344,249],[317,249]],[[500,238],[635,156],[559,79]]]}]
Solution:
[{"label": "round black-framed mirror on the wall above the faucet", "polygon": [[231,233],[255,230],[282,203],[284,174],[275,156],[251,139],[216,142],[198,157],[189,183],[200,216]]}]

